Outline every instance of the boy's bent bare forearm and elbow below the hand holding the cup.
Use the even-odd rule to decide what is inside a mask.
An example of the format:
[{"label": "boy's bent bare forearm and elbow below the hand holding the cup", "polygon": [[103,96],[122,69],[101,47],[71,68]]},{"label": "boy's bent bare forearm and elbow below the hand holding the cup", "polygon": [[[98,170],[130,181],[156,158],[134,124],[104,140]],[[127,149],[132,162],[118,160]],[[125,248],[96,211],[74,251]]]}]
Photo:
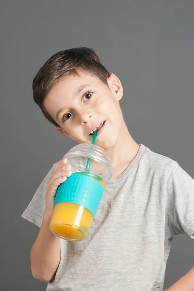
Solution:
[{"label": "boy's bent bare forearm and elbow below the hand holding the cup", "polygon": [[31,249],[31,270],[35,279],[48,283],[61,257],[59,238],[49,230],[51,215],[44,213],[42,226]]}]

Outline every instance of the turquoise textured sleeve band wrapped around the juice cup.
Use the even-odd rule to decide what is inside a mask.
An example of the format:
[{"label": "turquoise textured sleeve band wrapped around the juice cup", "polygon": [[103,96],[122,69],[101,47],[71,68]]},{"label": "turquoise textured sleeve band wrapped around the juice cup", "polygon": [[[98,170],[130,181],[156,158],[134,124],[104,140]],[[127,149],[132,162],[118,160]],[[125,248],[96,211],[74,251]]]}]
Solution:
[{"label": "turquoise textured sleeve band wrapped around the juice cup", "polygon": [[74,173],[59,185],[54,206],[60,202],[71,202],[81,205],[95,216],[104,188],[94,178]]}]

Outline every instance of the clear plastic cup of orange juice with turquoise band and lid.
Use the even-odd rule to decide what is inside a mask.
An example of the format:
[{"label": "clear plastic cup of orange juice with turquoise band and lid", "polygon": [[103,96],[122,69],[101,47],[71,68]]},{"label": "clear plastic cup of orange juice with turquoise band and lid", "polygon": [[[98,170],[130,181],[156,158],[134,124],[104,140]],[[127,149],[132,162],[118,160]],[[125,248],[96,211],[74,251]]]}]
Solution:
[{"label": "clear plastic cup of orange juice with turquoise band and lid", "polygon": [[[81,241],[88,235],[104,188],[112,178],[109,155],[101,147],[81,144],[72,147],[64,158],[72,167],[72,175],[56,193],[50,230],[67,241]],[[86,172],[91,159],[89,172]]]}]

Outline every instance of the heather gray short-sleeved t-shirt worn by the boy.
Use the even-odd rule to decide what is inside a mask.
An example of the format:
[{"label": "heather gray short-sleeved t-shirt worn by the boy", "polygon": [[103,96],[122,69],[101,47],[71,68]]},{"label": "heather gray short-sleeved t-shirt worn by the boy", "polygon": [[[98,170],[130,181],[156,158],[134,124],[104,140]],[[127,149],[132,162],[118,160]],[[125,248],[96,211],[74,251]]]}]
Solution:
[{"label": "heather gray short-sleeved t-shirt worn by the boy", "polygon": [[[41,226],[52,166],[22,217]],[[105,189],[88,237],[60,239],[47,291],[162,291],[173,236],[194,238],[194,179],[144,145]]]}]

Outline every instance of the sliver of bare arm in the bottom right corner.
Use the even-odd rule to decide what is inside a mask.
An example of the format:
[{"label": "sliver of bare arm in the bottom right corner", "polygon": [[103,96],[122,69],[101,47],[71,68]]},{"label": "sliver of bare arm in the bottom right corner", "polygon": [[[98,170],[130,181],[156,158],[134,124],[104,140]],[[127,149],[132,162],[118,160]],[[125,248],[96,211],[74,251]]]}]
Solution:
[{"label": "sliver of bare arm in the bottom right corner", "polygon": [[194,267],[165,291],[194,291]]}]

